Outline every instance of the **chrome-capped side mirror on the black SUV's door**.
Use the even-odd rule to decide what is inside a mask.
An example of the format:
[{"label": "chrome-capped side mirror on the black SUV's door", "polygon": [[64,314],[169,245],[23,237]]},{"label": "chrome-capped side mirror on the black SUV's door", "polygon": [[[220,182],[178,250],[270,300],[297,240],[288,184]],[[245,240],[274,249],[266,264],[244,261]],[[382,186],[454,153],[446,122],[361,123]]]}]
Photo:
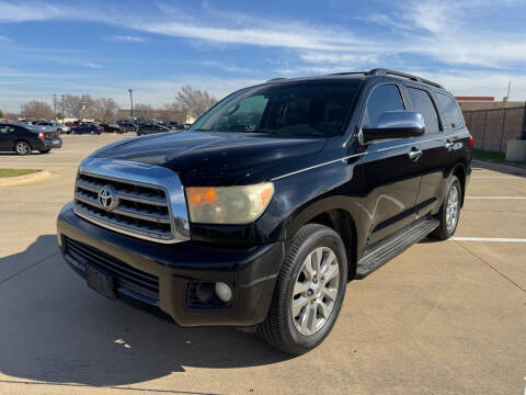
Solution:
[{"label": "chrome-capped side mirror on the black SUV's door", "polygon": [[416,111],[386,111],[380,114],[376,127],[364,127],[364,143],[386,138],[409,138],[422,136],[425,122]]}]

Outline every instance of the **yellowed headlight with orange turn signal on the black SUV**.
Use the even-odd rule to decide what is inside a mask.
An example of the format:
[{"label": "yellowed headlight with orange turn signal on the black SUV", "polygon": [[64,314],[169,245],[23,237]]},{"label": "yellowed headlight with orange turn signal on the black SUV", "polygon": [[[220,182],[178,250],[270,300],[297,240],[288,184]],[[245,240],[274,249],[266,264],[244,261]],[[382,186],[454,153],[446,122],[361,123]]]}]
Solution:
[{"label": "yellowed headlight with orange turn signal on the black SUV", "polygon": [[273,194],[272,182],[186,188],[190,221],[201,224],[249,224],[263,214]]}]

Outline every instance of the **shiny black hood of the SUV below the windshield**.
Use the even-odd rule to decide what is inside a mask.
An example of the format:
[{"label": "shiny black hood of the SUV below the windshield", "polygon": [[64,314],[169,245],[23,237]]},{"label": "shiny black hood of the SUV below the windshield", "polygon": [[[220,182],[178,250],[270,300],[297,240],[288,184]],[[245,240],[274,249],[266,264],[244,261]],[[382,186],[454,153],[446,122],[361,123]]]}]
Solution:
[{"label": "shiny black hood of the SUV below the windshield", "polygon": [[[188,131],[130,138],[92,157],[161,166],[176,171],[185,185],[226,185],[281,176],[295,158],[312,156],[324,144],[321,137]],[[263,179],[255,180],[255,174]]]}]

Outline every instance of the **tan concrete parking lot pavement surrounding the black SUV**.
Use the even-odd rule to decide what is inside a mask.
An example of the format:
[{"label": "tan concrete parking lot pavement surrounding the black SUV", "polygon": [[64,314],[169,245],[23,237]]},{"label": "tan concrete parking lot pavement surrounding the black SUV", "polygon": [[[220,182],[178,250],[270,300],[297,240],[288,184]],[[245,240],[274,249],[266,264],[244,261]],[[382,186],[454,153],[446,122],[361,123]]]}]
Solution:
[{"label": "tan concrete parking lot pavement surrounding the black SUV", "polygon": [[476,163],[456,239],[423,240],[351,282],[329,338],[290,358],[105,300],[66,266],[55,221],[76,168],[121,138],[0,154],[0,167],[50,173],[0,187],[0,394],[525,392],[526,172]]}]

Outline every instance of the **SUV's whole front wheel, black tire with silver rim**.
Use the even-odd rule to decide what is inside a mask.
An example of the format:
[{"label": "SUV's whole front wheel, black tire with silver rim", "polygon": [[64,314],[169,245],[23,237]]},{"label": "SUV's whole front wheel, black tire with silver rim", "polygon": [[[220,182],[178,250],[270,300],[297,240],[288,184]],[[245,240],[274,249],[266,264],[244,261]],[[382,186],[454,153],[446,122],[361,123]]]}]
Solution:
[{"label": "SUV's whole front wheel, black tire with silver rim", "polygon": [[[316,257],[320,251],[321,270],[316,270],[316,260],[320,262]],[[330,260],[331,252],[333,260]],[[312,256],[315,261],[310,261],[309,271],[308,258]],[[318,279],[320,271],[324,274]],[[330,279],[325,279],[327,273],[332,274]],[[268,315],[258,325],[256,332],[271,346],[289,354],[299,356],[313,349],[329,335],[340,314],[346,281],[347,259],[341,237],[323,225],[301,227],[283,261]],[[297,306],[295,313],[293,304]]]}]

